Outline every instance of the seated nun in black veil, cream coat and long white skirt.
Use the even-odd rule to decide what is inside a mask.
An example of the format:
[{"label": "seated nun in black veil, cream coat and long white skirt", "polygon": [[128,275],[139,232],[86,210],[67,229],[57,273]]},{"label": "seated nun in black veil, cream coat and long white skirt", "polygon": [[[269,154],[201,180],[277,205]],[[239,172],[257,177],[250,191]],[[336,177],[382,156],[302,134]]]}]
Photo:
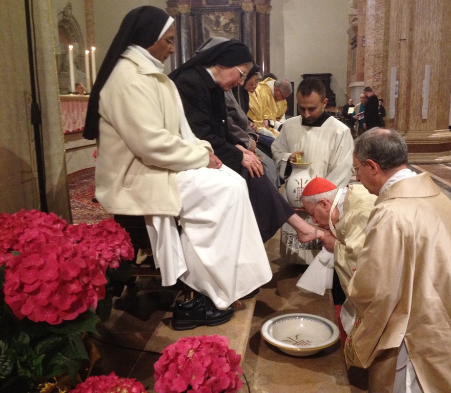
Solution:
[{"label": "seated nun in black veil, cream coat and long white skirt", "polygon": [[175,51],[173,23],[152,6],[125,16],[94,83],[84,137],[97,140],[98,202],[144,216],[162,285],[180,279],[196,291],[174,307],[173,328],[187,330],[227,322],[231,304],[272,272],[245,182],[194,136],[162,73]]}]

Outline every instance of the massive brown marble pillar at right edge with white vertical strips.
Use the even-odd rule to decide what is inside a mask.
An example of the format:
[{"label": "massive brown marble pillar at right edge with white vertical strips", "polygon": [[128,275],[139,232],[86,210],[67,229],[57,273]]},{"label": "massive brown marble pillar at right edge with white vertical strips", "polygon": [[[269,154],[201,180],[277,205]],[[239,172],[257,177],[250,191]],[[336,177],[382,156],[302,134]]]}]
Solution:
[{"label": "massive brown marble pillar at right edge with white vertical strips", "polygon": [[[368,0],[367,6],[370,3],[373,1]],[[378,86],[386,78],[385,123],[404,136],[411,162],[449,162],[451,40],[448,27],[451,2],[380,0],[380,3],[381,6],[385,3],[385,10],[380,11],[381,20],[384,21],[383,15],[386,12],[389,15],[388,45],[386,50],[382,45],[376,47],[372,57],[384,56],[387,52],[388,67],[381,71],[384,74],[381,78],[376,72],[379,71],[376,65],[368,65],[368,68],[365,65],[365,81]],[[367,23],[368,19],[370,18],[367,18]],[[378,26],[373,29],[377,34]],[[369,58],[367,52],[365,62]],[[376,77],[367,76],[367,70],[375,70]],[[392,75],[396,81],[391,80]],[[390,94],[391,88],[397,90],[396,98],[394,91]],[[383,92],[383,88],[381,91]]]}]

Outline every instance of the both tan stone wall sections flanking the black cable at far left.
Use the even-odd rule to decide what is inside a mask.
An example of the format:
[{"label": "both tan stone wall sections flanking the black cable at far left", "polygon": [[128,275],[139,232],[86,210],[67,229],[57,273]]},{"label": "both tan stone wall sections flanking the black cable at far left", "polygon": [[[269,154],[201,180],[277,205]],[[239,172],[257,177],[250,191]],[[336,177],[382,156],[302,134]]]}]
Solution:
[{"label": "both tan stone wall sections flanking the black cable at far left", "polygon": [[[31,2],[30,2],[31,3]],[[42,116],[47,205],[70,220],[70,204],[61,133],[56,62],[47,0],[33,4],[37,103]],[[40,209],[24,3],[0,2],[0,211]]]}]

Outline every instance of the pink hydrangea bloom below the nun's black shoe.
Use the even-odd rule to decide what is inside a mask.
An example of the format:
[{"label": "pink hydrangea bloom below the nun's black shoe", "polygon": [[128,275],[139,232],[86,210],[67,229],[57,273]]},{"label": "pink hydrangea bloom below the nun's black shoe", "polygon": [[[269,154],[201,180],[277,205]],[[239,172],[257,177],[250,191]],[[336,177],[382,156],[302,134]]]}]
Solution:
[{"label": "pink hydrangea bloom below the nun's black shoe", "polygon": [[236,393],[243,383],[241,355],[225,336],[183,337],[154,364],[157,393]]}]

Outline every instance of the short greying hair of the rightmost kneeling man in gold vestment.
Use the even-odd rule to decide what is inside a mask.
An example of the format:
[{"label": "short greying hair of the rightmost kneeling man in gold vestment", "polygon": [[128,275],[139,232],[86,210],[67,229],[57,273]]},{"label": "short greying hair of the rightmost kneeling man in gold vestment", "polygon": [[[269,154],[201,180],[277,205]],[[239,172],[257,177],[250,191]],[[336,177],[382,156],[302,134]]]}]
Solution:
[{"label": "short greying hair of the rightmost kneeling man in gold vestment", "polygon": [[382,170],[407,165],[407,144],[396,131],[374,127],[355,140],[355,155],[360,162],[373,160]]}]

